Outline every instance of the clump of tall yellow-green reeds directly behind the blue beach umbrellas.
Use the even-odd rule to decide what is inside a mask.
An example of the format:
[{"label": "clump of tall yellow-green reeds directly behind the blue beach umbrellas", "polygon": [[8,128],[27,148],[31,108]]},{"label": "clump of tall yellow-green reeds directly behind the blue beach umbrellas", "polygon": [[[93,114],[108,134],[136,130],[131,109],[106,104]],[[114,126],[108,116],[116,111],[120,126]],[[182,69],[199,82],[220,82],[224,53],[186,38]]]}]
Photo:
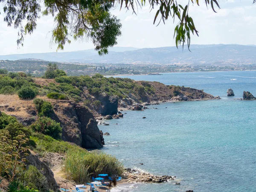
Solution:
[{"label": "clump of tall yellow-green reeds directly behind the blue beach umbrellas", "polygon": [[96,177],[99,174],[122,175],[124,171],[121,162],[104,153],[68,151],[64,165],[64,171],[69,179],[77,183],[86,183],[90,177]]}]

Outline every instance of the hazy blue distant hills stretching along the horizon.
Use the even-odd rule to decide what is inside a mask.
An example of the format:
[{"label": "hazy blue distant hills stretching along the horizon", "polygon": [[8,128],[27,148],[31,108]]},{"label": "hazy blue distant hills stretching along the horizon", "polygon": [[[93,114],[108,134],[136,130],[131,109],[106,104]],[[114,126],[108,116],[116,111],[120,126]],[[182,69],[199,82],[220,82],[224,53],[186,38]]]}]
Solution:
[{"label": "hazy blue distant hills stretching along the horizon", "polygon": [[3,55],[0,60],[36,58],[58,62],[80,63],[124,63],[124,64],[193,64],[230,65],[256,64],[256,46],[218,44],[191,45],[191,52],[184,47],[157,47],[137,49],[133,47],[113,47],[108,55],[99,56],[93,49],[76,52],[52,52],[38,54]]}]

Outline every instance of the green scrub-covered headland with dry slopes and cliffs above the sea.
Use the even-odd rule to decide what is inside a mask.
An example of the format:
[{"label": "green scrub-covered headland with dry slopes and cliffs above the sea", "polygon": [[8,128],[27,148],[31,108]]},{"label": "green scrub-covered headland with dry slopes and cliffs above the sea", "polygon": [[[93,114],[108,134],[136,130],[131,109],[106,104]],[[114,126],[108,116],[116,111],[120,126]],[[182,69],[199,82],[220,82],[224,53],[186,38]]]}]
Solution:
[{"label": "green scrub-covered headland with dry slopes and cliffs above the sea", "polygon": [[[48,65],[48,70],[57,74],[58,66]],[[54,79],[33,78],[23,73],[0,75],[1,94],[18,100],[17,106],[1,106],[4,113],[0,113],[0,142],[6,143],[0,146],[0,180],[7,183],[6,191],[7,186],[14,191],[48,191],[44,178],[47,176],[41,166],[31,163],[36,161],[31,158],[47,157],[49,153],[63,156],[64,175],[77,183],[88,182],[101,173],[122,175],[124,167],[115,157],[85,149],[104,145],[94,115],[111,113],[122,117],[123,114],[116,115],[119,102],[131,105],[175,95],[181,99],[212,98],[201,90],[158,82],[106,78],[101,74],[59,74]],[[84,133],[85,128],[90,132]]]}]

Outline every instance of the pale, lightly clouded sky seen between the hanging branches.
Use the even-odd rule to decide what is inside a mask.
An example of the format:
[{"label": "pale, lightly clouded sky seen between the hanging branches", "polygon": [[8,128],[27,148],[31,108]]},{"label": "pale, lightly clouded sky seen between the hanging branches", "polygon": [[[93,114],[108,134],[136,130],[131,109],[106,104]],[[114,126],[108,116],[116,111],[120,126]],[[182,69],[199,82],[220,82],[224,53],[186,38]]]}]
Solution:
[{"label": "pale, lightly clouded sky seen between the hanging branches", "polygon": [[[178,0],[185,4],[188,0]],[[189,15],[193,18],[199,31],[198,36],[192,36],[191,44],[256,44],[256,4],[253,0],[219,0],[221,9],[217,13],[207,9],[204,0],[199,0],[200,6],[189,6]],[[0,6],[0,55],[55,52],[57,45],[51,44],[51,31],[54,28],[53,18],[41,17],[37,29],[32,35],[25,37],[24,46],[17,48],[17,29],[8,27],[3,21],[3,11]],[[119,7],[111,10],[122,23],[122,36],[118,38],[118,47],[168,47],[175,46],[173,39],[177,21],[168,20],[159,26],[153,25],[157,9],[150,12],[146,5],[138,9],[138,14],[132,14]],[[67,44],[63,51],[93,49],[90,41],[74,41]]]}]

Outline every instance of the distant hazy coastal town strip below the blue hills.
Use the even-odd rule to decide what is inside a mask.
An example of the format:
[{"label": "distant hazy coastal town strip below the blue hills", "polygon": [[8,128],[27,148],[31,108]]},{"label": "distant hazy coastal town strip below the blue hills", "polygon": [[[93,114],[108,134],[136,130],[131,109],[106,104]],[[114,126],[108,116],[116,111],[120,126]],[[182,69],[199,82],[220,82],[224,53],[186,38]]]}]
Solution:
[{"label": "distant hazy coastal town strip below the blue hills", "polygon": [[[33,76],[42,76],[49,61],[42,60],[0,60],[0,69],[12,72],[31,73]],[[56,62],[55,62],[56,63]],[[57,63],[59,68],[69,76],[93,75],[157,75],[160,73],[197,72],[197,71],[242,71],[256,70],[256,64],[233,65],[181,65],[181,64],[73,64]]]}]

